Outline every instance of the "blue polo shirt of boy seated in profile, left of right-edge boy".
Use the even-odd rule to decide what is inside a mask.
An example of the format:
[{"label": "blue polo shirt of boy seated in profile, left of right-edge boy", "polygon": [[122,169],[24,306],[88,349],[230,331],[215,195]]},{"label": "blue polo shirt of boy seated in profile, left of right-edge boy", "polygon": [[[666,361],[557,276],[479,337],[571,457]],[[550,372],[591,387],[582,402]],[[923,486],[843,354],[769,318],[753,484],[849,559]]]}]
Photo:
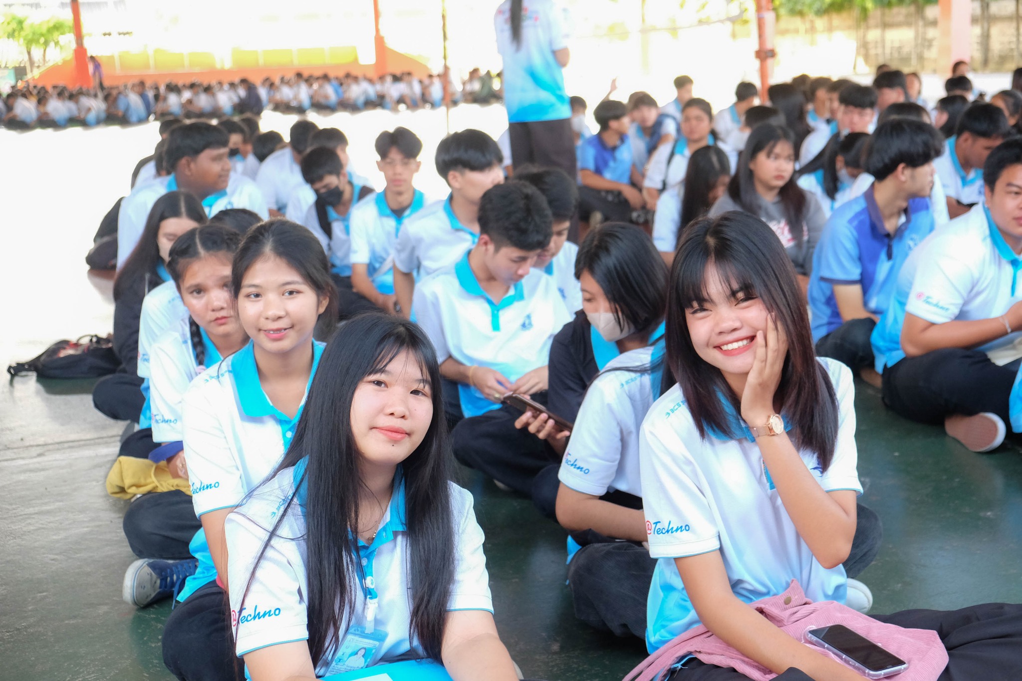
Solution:
[{"label": "blue polo shirt of boy seated in profile, left of right-edge boy", "polygon": [[930,200],[914,198],[891,234],[884,227],[873,187],[834,211],[812,253],[809,317],[812,340],[843,324],[834,286],[858,285],[866,311],[883,314],[909,253],[933,232]]}]

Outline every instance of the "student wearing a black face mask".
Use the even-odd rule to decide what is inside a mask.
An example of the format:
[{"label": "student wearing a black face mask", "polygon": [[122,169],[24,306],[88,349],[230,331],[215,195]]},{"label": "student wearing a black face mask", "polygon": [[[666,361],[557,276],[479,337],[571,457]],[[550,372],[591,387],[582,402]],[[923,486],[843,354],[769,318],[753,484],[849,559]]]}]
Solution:
[{"label": "student wearing a black face mask", "polygon": [[340,157],[332,149],[310,149],[301,158],[301,177],[316,192],[316,200],[301,224],[309,228],[330,258],[330,272],[337,287],[337,315],[346,319],[376,309],[368,298],[352,286],[352,207],[373,194],[372,187],[349,181]]}]

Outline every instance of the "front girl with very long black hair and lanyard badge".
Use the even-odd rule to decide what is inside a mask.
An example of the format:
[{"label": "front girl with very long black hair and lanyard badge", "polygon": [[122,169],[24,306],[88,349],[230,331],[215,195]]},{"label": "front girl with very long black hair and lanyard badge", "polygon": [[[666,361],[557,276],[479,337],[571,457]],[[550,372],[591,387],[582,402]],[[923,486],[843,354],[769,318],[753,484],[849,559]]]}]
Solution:
[{"label": "front girl with very long black hair and lanyard badge", "polygon": [[251,678],[428,659],[457,681],[513,681],[472,497],[450,479],[429,339],[393,315],[358,315],[321,367],[284,459],[227,519]]}]

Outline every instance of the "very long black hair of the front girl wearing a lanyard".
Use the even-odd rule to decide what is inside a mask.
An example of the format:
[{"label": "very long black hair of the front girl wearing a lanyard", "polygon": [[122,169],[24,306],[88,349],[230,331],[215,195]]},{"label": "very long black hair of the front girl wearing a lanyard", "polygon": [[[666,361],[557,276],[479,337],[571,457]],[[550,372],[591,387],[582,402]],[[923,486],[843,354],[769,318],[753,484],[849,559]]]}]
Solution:
[{"label": "very long black hair of the front girl wearing a lanyard", "polygon": [[[352,402],[363,380],[382,371],[402,352],[409,352],[429,381],[433,418],[422,443],[401,464],[405,481],[408,565],[411,585],[410,639],[418,639],[426,655],[440,659],[447,606],[455,571],[454,518],[451,508],[452,454],[444,420],[436,352],[412,322],[367,312],[339,328],[320,357],[294,439],[284,459],[268,480],[305,459],[307,468],[296,488],[305,488],[306,594],[309,652],[313,665],[335,649],[340,627],[354,615],[356,589],[364,581],[358,556],[359,475],[361,454],[352,434]],[[397,479],[394,481],[397,490]],[[260,493],[260,488],[252,496]],[[252,577],[295,494],[287,500],[253,564]],[[244,513],[242,505],[238,513]],[[242,596],[244,600],[244,595]]]}]

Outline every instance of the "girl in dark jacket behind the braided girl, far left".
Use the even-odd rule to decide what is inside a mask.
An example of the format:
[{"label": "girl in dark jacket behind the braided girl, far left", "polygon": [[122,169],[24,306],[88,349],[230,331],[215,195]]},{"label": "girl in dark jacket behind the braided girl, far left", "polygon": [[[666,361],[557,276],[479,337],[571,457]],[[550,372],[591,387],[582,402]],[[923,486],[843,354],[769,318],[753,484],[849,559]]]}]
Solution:
[{"label": "girl in dark jacket behind the braided girl, far left", "polygon": [[153,203],[138,244],[113,280],[113,349],[121,359],[121,371],[100,379],[92,390],[92,403],[110,419],[149,427],[148,415],[142,414],[146,399],[143,379],[137,373],[142,299],[159,284],[171,281],[165,265],[175,240],[205,221],[202,204],[193,195],[164,194]]}]

